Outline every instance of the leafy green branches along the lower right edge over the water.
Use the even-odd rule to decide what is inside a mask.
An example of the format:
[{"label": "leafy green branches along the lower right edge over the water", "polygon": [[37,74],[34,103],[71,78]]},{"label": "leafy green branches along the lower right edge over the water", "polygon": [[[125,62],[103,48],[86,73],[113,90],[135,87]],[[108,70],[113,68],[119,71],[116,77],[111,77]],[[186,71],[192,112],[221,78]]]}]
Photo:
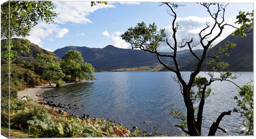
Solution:
[{"label": "leafy green branches along the lower right edge over the water", "polygon": [[245,84],[238,89],[237,108],[234,112],[238,112],[243,117],[243,125],[245,129],[240,130],[240,134],[254,135],[254,86],[253,84]]}]

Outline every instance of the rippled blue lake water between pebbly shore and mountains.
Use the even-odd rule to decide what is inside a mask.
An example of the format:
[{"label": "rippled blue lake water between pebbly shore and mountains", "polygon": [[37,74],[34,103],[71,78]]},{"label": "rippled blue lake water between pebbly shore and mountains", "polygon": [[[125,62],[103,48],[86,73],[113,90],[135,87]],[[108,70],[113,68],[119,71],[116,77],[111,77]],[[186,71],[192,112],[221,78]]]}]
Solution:
[{"label": "rippled blue lake water between pebbly shore and mountains", "polygon": [[[191,72],[182,72],[188,81]],[[240,72],[241,76],[234,82],[242,85],[253,79],[253,72]],[[74,115],[89,114],[92,117],[103,117],[116,120],[132,129],[153,132],[153,126],[158,133],[165,135],[183,134],[175,125],[180,120],[170,116],[170,106],[184,109],[183,97],[178,83],[172,79],[172,72],[101,72],[94,73],[95,81],[62,86],[48,90],[44,95],[61,95],[49,100],[55,104],[77,104],[80,109],[67,110]],[[217,74],[217,73],[216,73]],[[200,76],[207,76],[204,72]],[[232,110],[236,106],[233,99],[237,95],[237,87],[229,82],[213,82],[214,95],[208,97],[204,106],[203,134],[208,134],[209,127],[223,111]],[[195,104],[198,104],[197,102]],[[83,105],[84,107],[81,107]],[[197,105],[198,106],[198,105]],[[228,131],[228,135],[238,135],[241,127],[241,117],[232,113],[225,116],[220,127]],[[146,122],[146,123],[144,123]],[[218,132],[217,135],[227,135]]]}]

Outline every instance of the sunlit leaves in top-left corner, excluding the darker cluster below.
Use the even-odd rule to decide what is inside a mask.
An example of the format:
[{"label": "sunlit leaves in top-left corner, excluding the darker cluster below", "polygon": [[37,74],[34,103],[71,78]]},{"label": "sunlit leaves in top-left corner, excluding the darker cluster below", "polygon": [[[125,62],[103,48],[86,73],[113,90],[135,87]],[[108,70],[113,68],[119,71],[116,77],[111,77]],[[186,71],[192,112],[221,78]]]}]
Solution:
[{"label": "sunlit leaves in top-left corner, excluding the darker cluster below", "polygon": [[[10,8],[10,13],[9,13]],[[54,22],[57,13],[51,1],[10,1],[1,5],[1,37],[26,37],[38,21]],[[10,36],[9,36],[9,14]]]}]

